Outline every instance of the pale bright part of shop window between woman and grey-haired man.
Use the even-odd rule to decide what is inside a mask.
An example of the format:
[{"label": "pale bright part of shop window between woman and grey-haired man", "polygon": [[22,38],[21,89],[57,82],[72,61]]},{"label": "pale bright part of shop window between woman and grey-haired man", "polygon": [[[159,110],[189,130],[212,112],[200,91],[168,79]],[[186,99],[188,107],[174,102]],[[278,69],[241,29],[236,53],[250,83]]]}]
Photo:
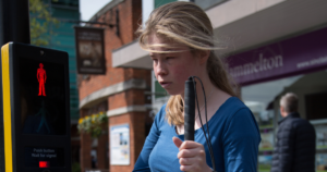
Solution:
[{"label": "pale bright part of shop window between woman and grey-haired man", "polygon": [[301,76],[259,83],[241,88],[244,103],[259,126],[262,142],[258,153],[258,172],[270,171],[277,122],[280,119],[279,98]]}]

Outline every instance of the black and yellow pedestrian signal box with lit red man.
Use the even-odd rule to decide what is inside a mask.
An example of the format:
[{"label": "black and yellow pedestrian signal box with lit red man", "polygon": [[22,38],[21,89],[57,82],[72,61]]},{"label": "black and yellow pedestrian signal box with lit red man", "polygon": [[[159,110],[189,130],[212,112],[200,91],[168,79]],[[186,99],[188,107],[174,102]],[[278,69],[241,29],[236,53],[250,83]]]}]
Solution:
[{"label": "black and yellow pedestrian signal box with lit red man", "polygon": [[66,52],[31,45],[1,48],[0,171],[71,171],[68,60]]}]

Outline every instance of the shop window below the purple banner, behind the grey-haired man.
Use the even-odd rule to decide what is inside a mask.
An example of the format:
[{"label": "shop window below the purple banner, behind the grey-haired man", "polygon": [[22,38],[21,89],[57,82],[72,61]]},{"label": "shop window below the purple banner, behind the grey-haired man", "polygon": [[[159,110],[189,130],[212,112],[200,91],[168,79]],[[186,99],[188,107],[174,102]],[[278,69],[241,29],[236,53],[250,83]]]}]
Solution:
[{"label": "shop window below the purple banner, behind the grey-haired man", "polygon": [[327,172],[327,71],[284,77],[243,86],[244,103],[253,112],[259,126],[262,143],[258,152],[258,172],[270,171],[279,112],[279,101],[287,93],[299,97],[299,113],[316,130],[316,169]]}]

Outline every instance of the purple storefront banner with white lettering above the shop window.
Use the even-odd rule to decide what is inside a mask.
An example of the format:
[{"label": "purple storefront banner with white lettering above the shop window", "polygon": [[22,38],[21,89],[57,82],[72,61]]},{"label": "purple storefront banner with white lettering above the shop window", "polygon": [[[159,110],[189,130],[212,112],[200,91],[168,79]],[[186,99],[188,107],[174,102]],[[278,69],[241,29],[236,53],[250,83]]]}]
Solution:
[{"label": "purple storefront banner with white lettering above the shop window", "polygon": [[327,28],[231,56],[227,67],[241,85],[327,69]]}]

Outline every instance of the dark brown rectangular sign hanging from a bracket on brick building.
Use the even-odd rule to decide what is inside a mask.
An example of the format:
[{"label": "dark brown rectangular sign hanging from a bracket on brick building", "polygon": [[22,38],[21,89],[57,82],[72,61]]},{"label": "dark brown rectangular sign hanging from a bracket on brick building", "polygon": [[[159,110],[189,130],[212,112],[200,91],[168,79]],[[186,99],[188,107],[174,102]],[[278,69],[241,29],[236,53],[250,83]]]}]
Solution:
[{"label": "dark brown rectangular sign hanging from a bracket on brick building", "polygon": [[105,74],[104,28],[74,27],[77,71],[80,74]]}]

